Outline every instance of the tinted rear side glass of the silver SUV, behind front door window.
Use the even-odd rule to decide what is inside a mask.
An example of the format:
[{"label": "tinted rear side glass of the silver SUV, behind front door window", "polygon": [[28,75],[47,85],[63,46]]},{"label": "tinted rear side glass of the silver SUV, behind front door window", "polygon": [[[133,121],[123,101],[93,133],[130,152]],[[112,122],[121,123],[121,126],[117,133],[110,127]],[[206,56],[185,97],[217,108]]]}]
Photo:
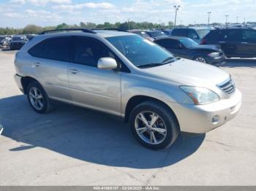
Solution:
[{"label": "tinted rear side glass of the silver SUV, behind front door window", "polygon": [[29,50],[29,54],[38,58],[56,61],[70,61],[71,38],[46,39]]}]

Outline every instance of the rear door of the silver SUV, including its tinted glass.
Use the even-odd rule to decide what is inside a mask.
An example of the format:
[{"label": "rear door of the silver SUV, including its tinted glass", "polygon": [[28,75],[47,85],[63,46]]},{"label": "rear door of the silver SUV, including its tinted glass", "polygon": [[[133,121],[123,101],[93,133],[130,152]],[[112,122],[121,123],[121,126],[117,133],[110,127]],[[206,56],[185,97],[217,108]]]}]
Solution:
[{"label": "rear door of the silver SUV, including its tinted glass", "polygon": [[71,61],[71,37],[46,39],[29,50],[35,78],[45,88],[50,98],[70,101],[67,66]]}]

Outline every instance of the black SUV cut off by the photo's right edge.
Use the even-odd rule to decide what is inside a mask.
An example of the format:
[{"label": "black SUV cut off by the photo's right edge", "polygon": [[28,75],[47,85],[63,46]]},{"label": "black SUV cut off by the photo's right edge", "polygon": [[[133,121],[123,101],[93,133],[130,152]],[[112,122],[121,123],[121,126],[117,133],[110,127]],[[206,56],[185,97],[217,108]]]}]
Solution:
[{"label": "black SUV cut off by the photo's right edge", "polygon": [[219,28],[207,34],[201,44],[219,44],[227,58],[255,58],[256,30],[252,28]]}]

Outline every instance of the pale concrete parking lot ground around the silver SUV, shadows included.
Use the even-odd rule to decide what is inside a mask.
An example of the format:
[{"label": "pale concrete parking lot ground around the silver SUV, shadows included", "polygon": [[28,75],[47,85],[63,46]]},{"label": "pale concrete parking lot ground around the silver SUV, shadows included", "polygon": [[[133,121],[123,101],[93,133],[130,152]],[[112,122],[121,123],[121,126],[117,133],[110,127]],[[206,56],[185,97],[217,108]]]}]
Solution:
[{"label": "pale concrete parking lot ground around the silver SUV, shadows included", "polygon": [[1,185],[255,185],[256,60],[221,67],[243,93],[234,120],[152,151],[108,114],[67,104],[35,113],[15,85],[14,55],[0,50]]}]

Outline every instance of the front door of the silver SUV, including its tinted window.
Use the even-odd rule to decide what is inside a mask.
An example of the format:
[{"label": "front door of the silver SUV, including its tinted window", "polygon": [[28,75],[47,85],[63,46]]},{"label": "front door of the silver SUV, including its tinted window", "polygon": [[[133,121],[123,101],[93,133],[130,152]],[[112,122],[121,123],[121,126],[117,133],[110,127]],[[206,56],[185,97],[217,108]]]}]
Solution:
[{"label": "front door of the silver SUV, including its tinted window", "polygon": [[115,58],[96,39],[75,37],[73,63],[68,66],[69,90],[74,104],[120,114],[121,72],[97,68],[99,58]]}]

